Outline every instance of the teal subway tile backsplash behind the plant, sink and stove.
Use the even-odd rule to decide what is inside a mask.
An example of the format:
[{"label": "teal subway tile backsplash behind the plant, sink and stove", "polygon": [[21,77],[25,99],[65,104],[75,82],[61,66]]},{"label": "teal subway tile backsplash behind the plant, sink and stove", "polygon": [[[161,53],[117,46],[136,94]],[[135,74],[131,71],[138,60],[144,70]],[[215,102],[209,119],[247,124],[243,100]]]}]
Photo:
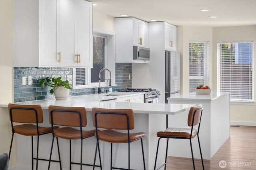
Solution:
[{"label": "teal subway tile backsplash behind the plant, sink and stove", "polygon": [[[116,86],[113,92],[132,87],[132,63],[116,63]],[[128,75],[131,79],[128,80]],[[32,85],[28,85],[28,76],[32,76]],[[62,77],[72,80],[72,68],[58,67],[14,67],[14,102],[44,100],[54,98],[50,87],[41,88],[40,80],[45,77]],[[26,85],[22,85],[22,77],[26,77]],[[106,89],[106,88],[105,88]],[[98,88],[72,89],[70,96],[97,94]]]}]

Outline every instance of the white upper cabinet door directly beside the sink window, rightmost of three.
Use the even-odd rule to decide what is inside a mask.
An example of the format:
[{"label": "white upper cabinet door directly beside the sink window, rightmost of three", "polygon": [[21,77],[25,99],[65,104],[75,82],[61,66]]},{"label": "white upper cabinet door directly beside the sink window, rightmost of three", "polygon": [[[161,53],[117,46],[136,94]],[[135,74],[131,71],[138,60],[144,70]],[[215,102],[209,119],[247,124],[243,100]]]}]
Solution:
[{"label": "white upper cabinet door directly beside the sink window, rightmost of three", "polygon": [[78,0],[77,3],[77,66],[92,67],[92,3]]}]

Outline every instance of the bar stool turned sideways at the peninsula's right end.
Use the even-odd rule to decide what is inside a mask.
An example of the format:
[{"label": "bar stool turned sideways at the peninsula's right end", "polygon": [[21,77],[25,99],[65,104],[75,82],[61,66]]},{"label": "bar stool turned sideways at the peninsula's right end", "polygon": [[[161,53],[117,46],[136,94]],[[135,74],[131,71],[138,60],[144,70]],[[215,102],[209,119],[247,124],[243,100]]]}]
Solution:
[{"label": "bar stool turned sideways at the peninsula's right end", "polygon": [[[194,138],[197,135],[198,139],[198,145],[199,145],[199,150],[200,150],[200,155],[201,155],[201,160],[202,160],[202,166],[204,169],[204,162],[203,162],[203,157],[202,157],[202,152],[201,152],[201,147],[200,147],[200,141],[199,141],[199,129],[200,129],[200,123],[201,123],[201,117],[202,117],[202,105],[194,106],[191,107],[189,112],[188,112],[188,126],[191,128],[167,128],[165,131],[159,131],[156,133],[158,139],[158,144],[157,144],[157,149],[156,149],[156,160],[157,160],[157,154],[158,154],[158,147],[159,147],[159,141],[162,138],[167,139],[166,143],[166,155],[165,155],[165,163],[156,168],[156,160],[155,160],[155,166],[154,170],[158,170],[164,166],[164,169],[166,169],[166,159],[167,159],[167,150],[168,150],[168,141],[169,139],[189,139],[190,141],[190,149],[191,149],[191,154],[192,154],[192,160],[193,160],[193,167],[195,170],[195,162],[194,162],[194,155],[193,155],[193,150],[192,150],[192,143],[191,139]],[[198,125],[198,129],[194,128],[194,126]]]}]

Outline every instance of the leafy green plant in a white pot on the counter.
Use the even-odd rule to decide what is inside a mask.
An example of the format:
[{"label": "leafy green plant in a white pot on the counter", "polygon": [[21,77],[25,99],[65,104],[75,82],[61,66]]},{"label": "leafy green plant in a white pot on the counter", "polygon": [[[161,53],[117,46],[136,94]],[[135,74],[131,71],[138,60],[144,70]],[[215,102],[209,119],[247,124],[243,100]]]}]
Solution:
[{"label": "leafy green plant in a white pot on the counter", "polygon": [[50,94],[54,94],[56,100],[66,100],[72,87],[68,80],[63,81],[61,77],[46,77],[40,81],[40,86],[44,88],[45,84],[53,88],[50,90]]}]

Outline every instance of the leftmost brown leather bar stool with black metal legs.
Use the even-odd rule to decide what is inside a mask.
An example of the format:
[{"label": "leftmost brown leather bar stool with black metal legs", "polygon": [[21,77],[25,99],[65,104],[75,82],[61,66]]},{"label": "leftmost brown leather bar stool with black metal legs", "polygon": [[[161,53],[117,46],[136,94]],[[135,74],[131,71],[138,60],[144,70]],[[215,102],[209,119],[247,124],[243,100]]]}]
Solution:
[{"label": "leftmost brown leather bar stool with black metal legs", "polygon": [[[19,104],[8,104],[10,121],[12,124],[12,141],[14,133],[18,133],[24,136],[31,136],[32,142],[32,170],[34,169],[33,160],[36,159],[36,170],[38,169],[38,160],[46,160],[48,159],[40,159],[38,158],[38,147],[39,147],[39,136],[52,133],[52,129],[57,129],[58,126],[54,127],[40,127],[38,123],[42,123],[44,121],[43,118],[43,111],[41,105],[19,105]],[[25,123],[21,125],[13,125],[13,122],[17,123]],[[31,124],[36,123],[36,125]],[[33,157],[33,136],[37,136],[37,151],[36,151],[36,158]],[[9,151],[9,160],[12,150],[12,141]],[[57,145],[58,141],[57,141]],[[60,155],[59,161],[53,160],[54,162],[60,162]]]}]

